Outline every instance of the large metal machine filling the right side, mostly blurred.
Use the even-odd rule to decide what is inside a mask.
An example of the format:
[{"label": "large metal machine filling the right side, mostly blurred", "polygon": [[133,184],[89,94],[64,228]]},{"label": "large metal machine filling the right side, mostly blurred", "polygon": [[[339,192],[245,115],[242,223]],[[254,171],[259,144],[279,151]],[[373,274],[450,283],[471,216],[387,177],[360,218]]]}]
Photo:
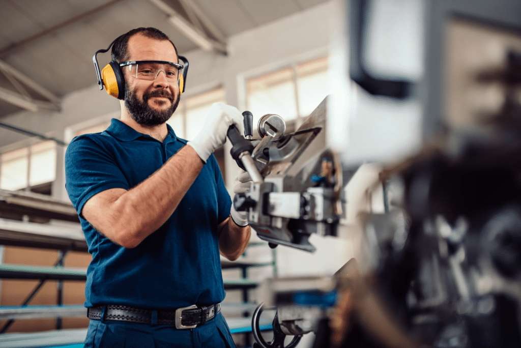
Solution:
[{"label": "large metal machine filling the right side, mostly blurred", "polygon": [[[365,202],[347,202],[359,205],[355,258],[331,276],[264,284],[253,319],[258,346],[297,346],[311,331],[314,347],[521,346],[521,2],[345,4],[354,114],[331,116],[322,102],[292,134],[266,115],[251,151],[257,179],[234,204],[262,239],[312,252],[311,233],[346,228],[346,169],[364,156],[384,169]],[[388,16],[379,33],[379,13],[413,19]],[[423,23],[421,52],[388,54],[386,65],[371,54],[398,47],[367,41],[396,36],[396,21]],[[411,55],[418,68],[400,70],[396,62]],[[387,128],[392,137],[356,137],[367,110],[382,120],[371,131]],[[342,116],[359,128],[337,128],[347,139],[330,142],[326,122]],[[419,120],[416,141],[403,120]],[[384,211],[376,213],[367,202],[382,187]],[[275,334],[266,342],[255,326],[271,307]]]}]

